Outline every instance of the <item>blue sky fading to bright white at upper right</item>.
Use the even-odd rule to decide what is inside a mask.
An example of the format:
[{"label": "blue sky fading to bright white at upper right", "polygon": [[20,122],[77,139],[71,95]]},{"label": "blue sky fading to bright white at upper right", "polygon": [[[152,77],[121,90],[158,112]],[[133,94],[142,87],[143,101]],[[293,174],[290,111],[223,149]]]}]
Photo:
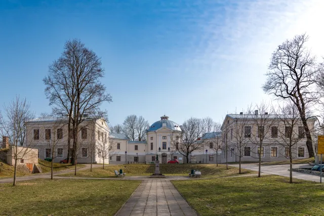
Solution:
[{"label": "blue sky fading to bright white at upper right", "polygon": [[[102,58],[111,124],[129,114],[222,121],[270,100],[261,90],[276,46],[307,32],[323,55],[324,1],[0,1],[0,95],[50,112],[42,79],[64,42]],[[3,109],[3,105],[0,106]]]}]

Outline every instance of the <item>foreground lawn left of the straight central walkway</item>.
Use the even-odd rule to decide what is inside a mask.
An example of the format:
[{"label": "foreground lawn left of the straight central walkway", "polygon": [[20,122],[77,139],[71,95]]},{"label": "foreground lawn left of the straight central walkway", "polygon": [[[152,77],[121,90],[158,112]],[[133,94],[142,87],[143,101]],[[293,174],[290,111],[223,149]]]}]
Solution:
[{"label": "foreground lawn left of the straight central walkway", "polygon": [[34,180],[0,184],[0,215],[114,215],[140,181]]}]

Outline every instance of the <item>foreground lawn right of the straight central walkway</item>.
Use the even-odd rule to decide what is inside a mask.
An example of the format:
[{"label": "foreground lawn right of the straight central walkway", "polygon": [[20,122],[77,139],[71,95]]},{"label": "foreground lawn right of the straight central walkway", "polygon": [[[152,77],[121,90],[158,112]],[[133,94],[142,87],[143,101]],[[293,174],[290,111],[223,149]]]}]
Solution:
[{"label": "foreground lawn right of the straight central walkway", "polygon": [[324,185],[280,176],[172,181],[200,215],[324,215]]}]

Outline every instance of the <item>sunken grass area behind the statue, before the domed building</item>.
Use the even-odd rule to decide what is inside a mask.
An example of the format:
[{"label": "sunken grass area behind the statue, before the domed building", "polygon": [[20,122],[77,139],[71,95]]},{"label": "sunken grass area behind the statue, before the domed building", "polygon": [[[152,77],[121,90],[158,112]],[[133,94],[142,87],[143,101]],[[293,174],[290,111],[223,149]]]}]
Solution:
[{"label": "sunken grass area behind the statue, before the domed building", "polygon": [[[154,172],[155,165],[149,164],[124,164],[124,165],[110,165],[105,169],[102,167],[77,171],[77,177],[92,177],[92,178],[111,178],[114,177],[114,170],[123,169],[126,176],[149,176]],[[229,166],[226,169],[225,165],[215,164],[160,164],[160,171],[164,175],[170,176],[188,176],[191,169],[200,170],[201,178],[225,177],[238,175],[238,168]],[[252,170],[242,169],[242,174],[254,173]],[[60,176],[74,176],[73,173],[62,174]]]}]

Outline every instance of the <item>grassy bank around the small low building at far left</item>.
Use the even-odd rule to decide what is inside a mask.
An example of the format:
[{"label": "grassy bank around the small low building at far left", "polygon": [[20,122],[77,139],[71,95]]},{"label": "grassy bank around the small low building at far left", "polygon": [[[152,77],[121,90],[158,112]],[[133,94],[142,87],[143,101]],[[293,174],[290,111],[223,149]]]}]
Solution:
[{"label": "grassy bank around the small low building at far left", "polygon": [[[51,171],[51,162],[46,160],[38,159],[39,165],[42,167],[43,172],[50,172]],[[77,164],[77,168],[84,167],[84,164]],[[61,163],[54,163],[53,164],[53,171],[62,171],[74,169],[74,165],[71,164],[61,164]],[[32,175],[27,167],[24,166],[17,166],[17,176],[30,176]],[[14,177],[14,166],[8,165],[0,160],[0,178],[8,178]]]}]

